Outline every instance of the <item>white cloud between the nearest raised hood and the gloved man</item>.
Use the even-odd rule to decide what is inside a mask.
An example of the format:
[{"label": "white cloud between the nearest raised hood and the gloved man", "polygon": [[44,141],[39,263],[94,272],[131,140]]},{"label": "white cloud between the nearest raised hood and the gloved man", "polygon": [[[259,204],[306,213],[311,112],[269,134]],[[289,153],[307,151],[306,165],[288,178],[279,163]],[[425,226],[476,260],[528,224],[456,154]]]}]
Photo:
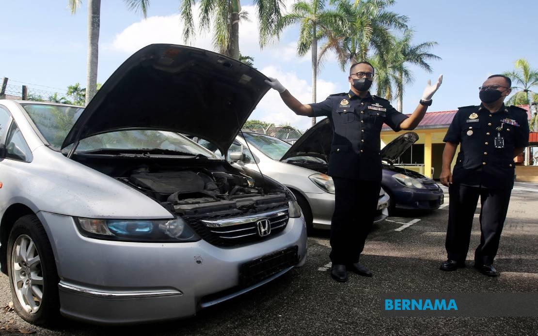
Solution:
[{"label": "white cloud between the nearest raised hood and the gloved man", "polygon": [[[284,72],[281,68],[268,66],[261,69],[261,72],[267,76],[278,78],[291,94],[301,103],[312,103],[312,86],[310,81],[304,80],[297,76],[294,72]],[[337,85],[332,82],[318,80],[317,81],[317,101],[323,101],[330,94],[334,94]],[[306,130],[310,127],[310,118],[295,115],[282,102],[280,95],[275,90],[267,92],[265,97],[261,99],[256,110],[254,111],[253,119],[260,119],[276,125],[290,123],[292,126],[300,130]]]}]

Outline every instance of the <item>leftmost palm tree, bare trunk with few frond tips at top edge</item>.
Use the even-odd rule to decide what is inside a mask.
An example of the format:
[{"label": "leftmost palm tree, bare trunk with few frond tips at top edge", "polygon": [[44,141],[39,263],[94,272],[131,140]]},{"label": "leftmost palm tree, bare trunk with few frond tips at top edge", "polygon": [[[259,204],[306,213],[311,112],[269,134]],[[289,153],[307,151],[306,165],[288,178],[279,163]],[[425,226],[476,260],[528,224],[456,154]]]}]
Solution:
[{"label": "leftmost palm tree, bare trunk with few frond tips at top edge", "polygon": [[[140,11],[147,17],[149,0],[124,0],[130,10]],[[68,7],[72,14],[80,8],[82,0],[68,0]],[[88,61],[86,78],[86,105],[97,91],[97,64],[99,55],[99,30],[101,26],[101,0],[88,0]]]}]

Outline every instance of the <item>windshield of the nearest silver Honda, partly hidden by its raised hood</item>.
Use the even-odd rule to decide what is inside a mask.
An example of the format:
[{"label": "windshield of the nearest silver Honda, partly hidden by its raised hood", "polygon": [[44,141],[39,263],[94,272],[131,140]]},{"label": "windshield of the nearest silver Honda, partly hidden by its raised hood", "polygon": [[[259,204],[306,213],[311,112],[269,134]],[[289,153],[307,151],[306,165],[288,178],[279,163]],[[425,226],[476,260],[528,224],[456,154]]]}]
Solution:
[{"label": "windshield of the nearest silver Honda, partly hidden by its raised hood", "polygon": [[[60,151],[63,139],[80,117],[83,108],[46,104],[23,104],[39,132],[53,149]],[[69,149],[68,146],[64,149]],[[125,130],[97,134],[80,140],[77,152],[96,149],[164,149],[183,154],[217,156],[178,133],[155,130]],[[220,158],[218,158],[220,159]]]}]

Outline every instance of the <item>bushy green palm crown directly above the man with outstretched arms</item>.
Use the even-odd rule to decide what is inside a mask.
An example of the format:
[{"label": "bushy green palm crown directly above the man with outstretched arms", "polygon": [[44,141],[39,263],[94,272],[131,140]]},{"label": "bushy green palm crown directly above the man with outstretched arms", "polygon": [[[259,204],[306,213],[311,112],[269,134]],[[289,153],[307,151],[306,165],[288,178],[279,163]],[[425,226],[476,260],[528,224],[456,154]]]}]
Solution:
[{"label": "bushy green palm crown directly above the man with outstretched arms", "polygon": [[318,62],[324,61],[330,51],[337,55],[342,70],[348,64],[369,60],[378,55],[384,60],[393,46],[391,30],[407,29],[408,18],[385,10],[394,0],[331,0],[339,12],[350,20],[350,32],[332,31],[322,45]]}]

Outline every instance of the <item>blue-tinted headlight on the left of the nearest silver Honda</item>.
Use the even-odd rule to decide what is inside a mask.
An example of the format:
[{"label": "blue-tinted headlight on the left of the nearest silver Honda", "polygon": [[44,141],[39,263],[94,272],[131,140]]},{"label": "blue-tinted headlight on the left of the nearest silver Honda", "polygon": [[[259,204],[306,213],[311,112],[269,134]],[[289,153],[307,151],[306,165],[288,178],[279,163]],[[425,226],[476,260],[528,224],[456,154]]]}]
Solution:
[{"label": "blue-tinted headlight on the left of the nearest silver Honda", "polygon": [[181,218],[170,220],[130,220],[76,218],[86,237],[121,241],[197,241],[200,237]]}]

